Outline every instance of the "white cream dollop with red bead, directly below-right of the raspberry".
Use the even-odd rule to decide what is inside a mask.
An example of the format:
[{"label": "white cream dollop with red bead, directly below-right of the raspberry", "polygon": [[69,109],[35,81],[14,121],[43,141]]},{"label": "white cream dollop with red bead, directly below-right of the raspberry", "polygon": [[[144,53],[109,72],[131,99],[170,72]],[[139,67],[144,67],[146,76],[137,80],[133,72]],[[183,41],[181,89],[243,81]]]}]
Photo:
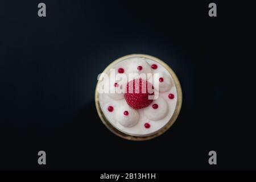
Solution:
[{"label": "white cream dollop with red bead, directly below-right of the raspberry", "polygon": [[[153,105],[157,104],[158,108],[154,109]],[[158,97],[158,99],[154,100],[151,105],[149,105],[148,107],[144,108],[144,114],[146,115],[146,117],[148,119],[151,119],[153,121],[158,121],[160,119],[163,119],[164,117],[166,117],[167,115],[167,111],[168,111],[168,104],[167,102],[162,98],[162,97]]]}]

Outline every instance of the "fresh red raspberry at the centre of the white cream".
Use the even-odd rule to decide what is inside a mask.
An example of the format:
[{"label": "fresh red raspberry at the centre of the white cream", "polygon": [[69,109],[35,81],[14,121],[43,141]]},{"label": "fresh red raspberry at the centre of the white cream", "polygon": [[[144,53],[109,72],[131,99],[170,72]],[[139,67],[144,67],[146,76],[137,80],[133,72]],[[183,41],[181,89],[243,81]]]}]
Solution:
[{"label": "fresh red raspberry at the centre of the white cream", "polygon": [[151,88],[153,88],[152,84],[142,80],[142,78],[129,81],[126,86],[127,93],[125,93],[127,104],[133,109],[142,109],[149,106],[153,100],[148,99],[148,97],[154,96],[154,90]]}]

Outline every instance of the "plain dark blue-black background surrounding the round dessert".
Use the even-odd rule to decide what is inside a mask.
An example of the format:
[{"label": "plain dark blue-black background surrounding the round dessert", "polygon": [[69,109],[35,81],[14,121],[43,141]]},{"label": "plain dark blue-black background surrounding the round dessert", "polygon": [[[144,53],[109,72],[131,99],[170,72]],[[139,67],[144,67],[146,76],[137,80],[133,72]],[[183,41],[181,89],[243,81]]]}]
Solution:
[{"label": "plain dark blue-black background surrounding the round dessert", "polygon": [[[213,1],[210,18],[210,2],[0,1],[0,169],[256,169],[238,48],[251,5]],[[131,53],[165,61],[183,89],[174,126],[144,142],[116,137],[94,105],[97,75]]]}]

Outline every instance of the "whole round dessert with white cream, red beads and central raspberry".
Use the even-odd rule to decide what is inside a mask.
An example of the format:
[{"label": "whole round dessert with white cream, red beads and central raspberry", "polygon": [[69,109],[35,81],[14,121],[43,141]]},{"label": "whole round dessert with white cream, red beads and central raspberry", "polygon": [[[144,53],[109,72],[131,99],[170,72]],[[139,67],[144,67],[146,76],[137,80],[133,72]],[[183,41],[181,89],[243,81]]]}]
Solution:
[{"label": "whole round dessert with white cream, red beads and central raspberry", "polygon": [[119,137],[147,140],[175,122],[182,102],[179,80],[163,61],[123,56],[98,77],[95,101],[102,122]]}]

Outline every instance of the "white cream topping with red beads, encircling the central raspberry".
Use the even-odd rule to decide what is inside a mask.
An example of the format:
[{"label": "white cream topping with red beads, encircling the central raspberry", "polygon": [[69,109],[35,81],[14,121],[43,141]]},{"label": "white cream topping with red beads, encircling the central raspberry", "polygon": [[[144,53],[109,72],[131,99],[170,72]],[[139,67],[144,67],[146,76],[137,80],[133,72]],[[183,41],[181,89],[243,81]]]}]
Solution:
[{"label": "white cream topping with red beads, encircling the central raspberry", "polygon": [[[114,93],[99,93],[99,102],[101,109],[108,121],[119,131],[133,136],[148,136],[157,133],[170,121],[174,114],[177,104],[177,90],[174,80],[161,64],[148,59],[146,57],[134,56],[118,61],[111,69],[114,69],[115,74],[121,73],[126,75],[129,73],[152,73],[153,79],[148,79],[152,85],[154,83],[154,73],[158,73],[159,90],[158,98],[142,109],[133,109],[130,107],[124,94],[121,93],[122,86],[126,86],[127,81],[133,80],[129,78],[126,81],[117,78],[109,87],[118,91]],[[110,74],[107,71],[106,74]],[[101,81],[99,86],[109,83]]]}]

